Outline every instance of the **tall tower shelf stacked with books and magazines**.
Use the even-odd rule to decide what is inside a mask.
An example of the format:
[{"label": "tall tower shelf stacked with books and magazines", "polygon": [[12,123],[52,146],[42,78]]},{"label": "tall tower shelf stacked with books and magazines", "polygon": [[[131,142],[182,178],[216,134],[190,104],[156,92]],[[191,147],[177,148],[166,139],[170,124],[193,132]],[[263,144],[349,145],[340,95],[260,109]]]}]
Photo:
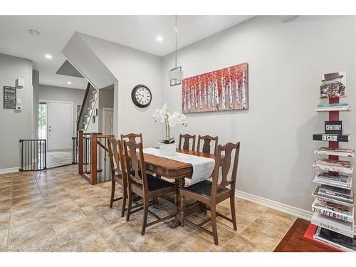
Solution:
[{"label": "tall tower shelf stacked with books and magazines", "polygon": [[[332,74],[332,73],[331,73]],[[353,167],[350,161],[340,160],[339,157],[355,157],[355,150],[339,148],[339,142],[349,142],[350,135],[342,132],[342,122],[339,120],[339,112],[349,111],[347,103],[337,103],[339,98],[345,96],[345,90],[339,95],[333,96],[323,87],[328,81],[328,75],[323,75],[320,86],[320,98],[329,98],[331,103],[320,103],[317,112],[330,112],[329,120],[325,122],[325,133],[314,134],[313,140],[328,142],[328,147],[320,147],[314,153],[325,158],[315,159],[311,166],[319,172],[313,182],[315,187],[312,205],[313,217],[305,238],[313,239],[341,251],[356,251],[356,239],[354,232],[354,201],[352,190]],[[345,73],[339,75],[345,77]],[[345,87],[344,87],[345,89]],[[331,100],[331,98],[334,98]],[[307,232],[308,232],[307,231]]]}]

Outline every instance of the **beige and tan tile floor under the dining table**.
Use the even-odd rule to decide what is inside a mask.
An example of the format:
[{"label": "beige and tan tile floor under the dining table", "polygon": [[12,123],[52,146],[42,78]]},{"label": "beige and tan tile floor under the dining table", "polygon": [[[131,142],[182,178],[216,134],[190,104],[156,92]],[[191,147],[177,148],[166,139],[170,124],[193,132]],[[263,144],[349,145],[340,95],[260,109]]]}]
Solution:
[{"label": "beige and tan tile floor under the dining table", "polygon": [[[168,221],[141,236],[142,211],[126,222],[119,215],[120,201],[109,208],[110,182],[91,186],[77,173],[77,166],[70,165],[0,175],[0,251],[273,251],[295,221],[237,199],[238,230],[218,217],[219,246],[203,231],[189,225],[170,229]],[[118,197],[121,190],[116,191]],[[155,211],[173,210],[160,199]],[[218,211],[229,215],[229,203]],[[205,216],[189,218],[203,221]]]}]

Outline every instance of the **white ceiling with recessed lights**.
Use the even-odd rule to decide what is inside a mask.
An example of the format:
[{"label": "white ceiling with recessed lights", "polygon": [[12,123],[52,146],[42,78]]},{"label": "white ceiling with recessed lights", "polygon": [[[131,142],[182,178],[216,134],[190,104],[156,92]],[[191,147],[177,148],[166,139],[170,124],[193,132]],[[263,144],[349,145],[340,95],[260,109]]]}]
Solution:
[{"label": "white ceiling with recessed lights", "polygon": [[[178,49],[251,17],[178,16]],[[33,61],[40,84],[85,89],[85,79],[56,74],[66,61],[61,51],[75,31],[165,56],[174,51],[174,21],[174,16],[0,16],[0,53]],[[40,34],[31,35],[30,29]]]}]

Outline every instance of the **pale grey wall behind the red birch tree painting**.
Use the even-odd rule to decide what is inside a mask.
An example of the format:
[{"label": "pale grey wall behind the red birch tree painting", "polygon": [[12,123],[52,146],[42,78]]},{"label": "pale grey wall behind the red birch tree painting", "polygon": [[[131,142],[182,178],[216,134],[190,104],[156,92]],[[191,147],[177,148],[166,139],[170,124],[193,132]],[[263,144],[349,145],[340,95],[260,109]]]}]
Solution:
[{"label": "pale grey wall behind the red birch tree painting", "polygon": [[[314,111],[320,75],[346,71],[345,101],[355,104],[355,18],[300,16],[282,23],[278,16],[259,16],[183,48],[178,61],[184,77],[247,62],[249,109],[187,115],[188,127],[175,127],[172,134],[219,135],[221,144],[240,141],[237,189],[310,210],[313,150],[327,145],[312,140],[328,120]],[[173,54],[162,64],[162,100],[180,112],[182,87],[167,81]],[[342,113],[341,120],[354,135],[355,111]]]}]

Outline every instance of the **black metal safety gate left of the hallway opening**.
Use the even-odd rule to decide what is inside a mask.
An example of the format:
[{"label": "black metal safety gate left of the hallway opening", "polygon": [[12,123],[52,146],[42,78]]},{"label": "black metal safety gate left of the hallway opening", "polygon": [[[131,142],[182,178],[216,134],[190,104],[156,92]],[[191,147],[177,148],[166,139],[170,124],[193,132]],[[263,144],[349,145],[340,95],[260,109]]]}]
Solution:
[{"label": "black metal safety gate left of the hallway opening", "polygon": [[40,171],[47,169],[47,144],[44,139],[21,139],[21,167],[23,171]]}]

